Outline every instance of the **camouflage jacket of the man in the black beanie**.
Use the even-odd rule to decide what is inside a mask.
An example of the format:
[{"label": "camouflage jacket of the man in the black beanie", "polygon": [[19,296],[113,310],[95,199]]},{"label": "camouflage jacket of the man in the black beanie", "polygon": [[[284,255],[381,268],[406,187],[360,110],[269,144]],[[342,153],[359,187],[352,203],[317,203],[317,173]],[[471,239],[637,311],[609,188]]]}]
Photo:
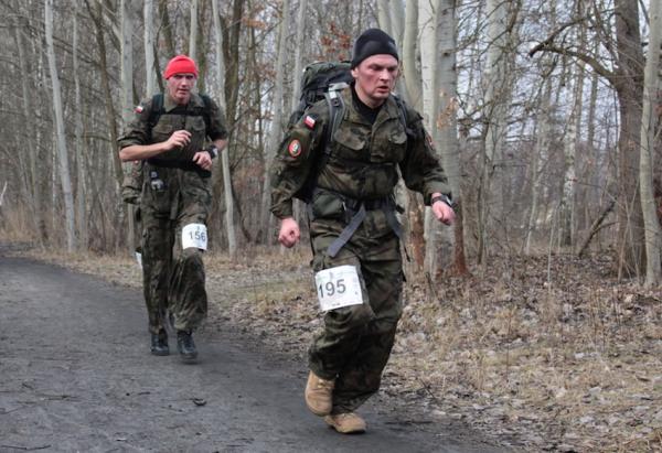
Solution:
[{"label": "camouflage jacket of the man in the black beanie", "polygon": [[[331,140],[331,155],[320,170],[317,187],[354,199],[376,199],[392,194],[397,168],[408,188],[449,194],[447,179],[426,133],[421,117],[407,108],[407,136],[397,101],[389,97],[374,125],[355,109],[351,88],[342,91],[345,114]],[[271,166],[271,212],[278,218],[292,215],[292,196],[316,171],[323,153],[324,128],[329,123],[325,100],[313,105],[287,132]]]}]

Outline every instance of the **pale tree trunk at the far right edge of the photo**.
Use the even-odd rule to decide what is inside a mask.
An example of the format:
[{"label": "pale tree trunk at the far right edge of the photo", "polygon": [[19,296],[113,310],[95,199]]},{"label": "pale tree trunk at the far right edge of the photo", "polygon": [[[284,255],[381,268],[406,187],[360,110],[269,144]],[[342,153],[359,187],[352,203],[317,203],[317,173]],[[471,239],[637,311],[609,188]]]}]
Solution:
[{"label": "pale tree trunk at the far right edge of the photo", "polygon": [[658,206],[653,191],[653,152],[659,131],[660,109],[660,45],[662,44],[662,7],[659,0],[650,2],[650,36],[644,69],[643,114],[641,119],[641,143],[639,161],[639,187],[645,237],[645,285],[662,284],[662,231],[658,220]]}]

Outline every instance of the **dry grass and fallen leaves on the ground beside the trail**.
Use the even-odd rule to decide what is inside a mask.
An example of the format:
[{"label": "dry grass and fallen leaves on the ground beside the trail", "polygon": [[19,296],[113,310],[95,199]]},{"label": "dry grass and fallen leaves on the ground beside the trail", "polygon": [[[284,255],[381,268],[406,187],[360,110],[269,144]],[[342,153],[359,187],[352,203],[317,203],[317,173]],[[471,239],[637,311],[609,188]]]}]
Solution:
[{"label": "dry grass and fallen leaves on the ground beside the trail", "polygon": [[[207,256],[210,322],[268,333],[302,356],[321,315],[299,250]],[[36,257],[140,284],[128,257]],[[382,395],[527,451],[662,451],[662,295],[616,282],[611,268],[511,257],[444,279],[435,296],[409,281]]]}]

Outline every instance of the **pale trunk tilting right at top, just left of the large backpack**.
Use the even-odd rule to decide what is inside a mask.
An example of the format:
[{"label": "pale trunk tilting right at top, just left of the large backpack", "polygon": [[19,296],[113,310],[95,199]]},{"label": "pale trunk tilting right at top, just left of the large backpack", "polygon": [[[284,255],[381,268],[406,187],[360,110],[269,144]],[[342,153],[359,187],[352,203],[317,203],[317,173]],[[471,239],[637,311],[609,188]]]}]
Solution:
[{"label": "pale trunk tilting right at top, just left of the large backpack", "polygon": [[277,152],[277,147],[280,141],[280,136],[282,134],[282,85],[285,79],[285,52],[287,50],[287,34],[289,30],[289,0],[282,1],[282,10],[281,10],[280,25],[278,26],[278,60],[276,63],[276,82],[274,85],[274,101],[273,101],[273,110],[274,115],[271,116],[271,128],[269,130],[269,139],[267,141],[267,145],[265,147],[265,183],[263,186],[263,199],[261,199],[261,226],[264,228],[264,240],[269,244],[271,241],[271,218],[269,212],[270,204],[270,193],[271,193],[271,182],[269,177],[269,164],[271,163],[274,155]]}]

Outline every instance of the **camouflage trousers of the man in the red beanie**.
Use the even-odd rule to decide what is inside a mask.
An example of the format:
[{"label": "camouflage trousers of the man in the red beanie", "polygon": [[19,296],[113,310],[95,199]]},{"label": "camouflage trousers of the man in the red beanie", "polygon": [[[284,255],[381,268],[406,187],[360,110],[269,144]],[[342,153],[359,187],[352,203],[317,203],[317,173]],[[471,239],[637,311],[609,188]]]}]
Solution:
[{"label": "camouflage trousers of the man in the red beanie", "polygon": [[166,177],[175,171],[162,171],[170,184],[167,192],[156,193],[146,183],[141,197],[142,285],[151,333],[166,327],[168,312],[173,315],[174,328],[182,331],[199,327],[207,312],[202,250],[182,248],[182,228],[206,225],[211,196],[206,185],[197,186],[195,180],[192,187],[180,191],[182,176],[180,181]]}]

